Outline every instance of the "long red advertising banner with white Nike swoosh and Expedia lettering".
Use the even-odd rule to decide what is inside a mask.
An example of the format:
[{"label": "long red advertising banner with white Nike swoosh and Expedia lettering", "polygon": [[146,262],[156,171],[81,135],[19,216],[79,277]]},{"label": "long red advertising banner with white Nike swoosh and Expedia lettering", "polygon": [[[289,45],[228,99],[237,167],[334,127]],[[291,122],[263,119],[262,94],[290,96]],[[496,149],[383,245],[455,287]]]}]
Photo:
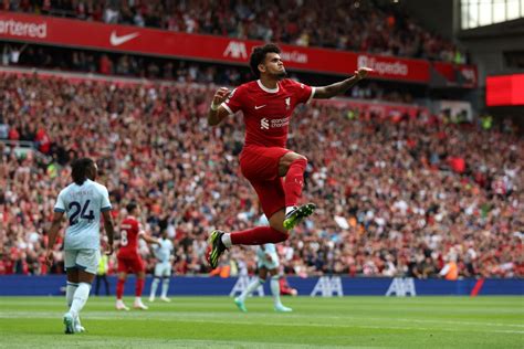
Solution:
[{"label": "long red advertising banner with white Nike swoosh and Expedia lettering", "polygon": [[[1,39],[231,64],[247,64],[252,47],[261,44],[259,41],[0,11]],[[282,59],[291,70],[350,75],[358,66],[369,66],[375,70],[371,76],[376,78],[429,82],[430,63],[423,60],[294,45],[281,47]]]}]

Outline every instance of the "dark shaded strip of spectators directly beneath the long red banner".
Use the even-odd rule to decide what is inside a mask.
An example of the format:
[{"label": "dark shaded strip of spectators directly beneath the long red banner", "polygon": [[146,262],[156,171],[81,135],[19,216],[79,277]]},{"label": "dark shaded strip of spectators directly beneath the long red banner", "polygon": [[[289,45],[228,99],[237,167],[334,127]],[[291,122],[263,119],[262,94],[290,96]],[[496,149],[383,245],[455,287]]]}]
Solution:
[{"label": "dark shaded strip of spectators directly beneath the long red banner", "polygon": [[[248,66],[218,65],[203,62],[149,57],[122,53],[103,53],[71,50],[35,44],[0,43],[1,65],[22,68],[92,73],[104,76],[122,76],[164,82],[218,84],[238,86],[253,78]],[[290,73],[301,80],[301,72]],[[338,77],[314,74],[314,85],[332,84]],[[411,91],[396,84],[384,86],[384,82],[365,81],[348,93],[353,98],[380,99],[395,103],[412,103]],[[417,86],[418,91],[420,88]],[[411,88],[412,89],[412,88]]]}]

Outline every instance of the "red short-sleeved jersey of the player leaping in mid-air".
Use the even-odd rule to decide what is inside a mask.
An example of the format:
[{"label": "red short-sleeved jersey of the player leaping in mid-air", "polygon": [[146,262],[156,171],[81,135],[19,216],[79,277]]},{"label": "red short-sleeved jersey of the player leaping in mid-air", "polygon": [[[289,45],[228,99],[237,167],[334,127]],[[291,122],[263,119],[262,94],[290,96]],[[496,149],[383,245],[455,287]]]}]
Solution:
[{"label": "red short-sleeved jersey of the player leaping in mid-air", "polygon": [[230,114],[242,110],[245,146],[284,148],[293,110],[297,104],[310,103],[314,93],[314,87],[291,78],[280,81],[273,89],[258,80],[233,89],[222,106]]}]

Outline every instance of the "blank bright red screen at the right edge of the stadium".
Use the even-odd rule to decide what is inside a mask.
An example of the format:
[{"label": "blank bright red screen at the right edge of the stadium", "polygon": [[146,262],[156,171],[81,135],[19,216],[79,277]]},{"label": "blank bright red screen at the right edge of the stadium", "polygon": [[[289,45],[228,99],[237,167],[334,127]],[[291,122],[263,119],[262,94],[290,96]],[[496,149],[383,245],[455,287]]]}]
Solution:
[{"label": "blank bright red screen at the right edge of the stadium", "polygon": [[488,76],[485,104],[490,107],[524,105],[524,74]]}]

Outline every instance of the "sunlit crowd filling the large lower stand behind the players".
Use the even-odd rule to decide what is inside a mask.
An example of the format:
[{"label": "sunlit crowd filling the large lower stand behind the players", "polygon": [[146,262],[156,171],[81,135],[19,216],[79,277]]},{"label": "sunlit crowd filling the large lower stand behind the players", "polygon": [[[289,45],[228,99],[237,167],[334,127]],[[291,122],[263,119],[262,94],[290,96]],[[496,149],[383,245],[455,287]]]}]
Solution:
[{"label": "sunlit crowd filling the large lower stand behind the players", "polygon": [[[212,85],[3,73],[0,91],[0,138],[39,150],[0,142],[0,274],[63,272],[60,244],[51,269],[43,247],[80,156],[96,159],[117,222],[136,200],[149,233],[168,231],[176,274],[210,272],[213,226],[256,224],[256,197],[238,167],[241,123],[207,126]],[[522,136],[328,103],[297,110],[291,129],[289,147],[310,159],[303,200],[319,209],[279,245],[286,274],[434,277],[455,261],[460,276],[524,276]],[[149,247],[140,253],[150,272]],[[235,247],[214,273],[254,268],[254,250]]]}]

